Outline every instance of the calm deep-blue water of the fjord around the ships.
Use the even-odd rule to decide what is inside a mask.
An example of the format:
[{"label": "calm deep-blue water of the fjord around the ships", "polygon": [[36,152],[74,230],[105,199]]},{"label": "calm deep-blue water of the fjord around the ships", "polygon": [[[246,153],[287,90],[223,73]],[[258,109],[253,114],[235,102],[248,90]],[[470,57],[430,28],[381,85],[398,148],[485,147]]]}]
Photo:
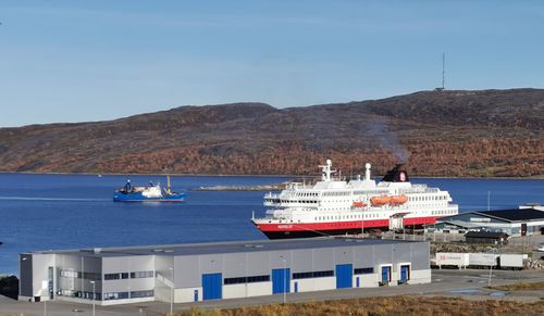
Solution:
[{"label": "calm deep-blue water of the fjord around the ships", "polygon": [[[263,192],[191,191],[201,186],[268,185],[285,177],[172,177],[182,204],[114,203],[126,176],[0,174],[0,274],[17,274],[25,251],[264,239],[249,218]],[[131,176],[135,185],[162,180]],[[415,179],[448,190],[461,211],[544,204],[544,180]]]}]

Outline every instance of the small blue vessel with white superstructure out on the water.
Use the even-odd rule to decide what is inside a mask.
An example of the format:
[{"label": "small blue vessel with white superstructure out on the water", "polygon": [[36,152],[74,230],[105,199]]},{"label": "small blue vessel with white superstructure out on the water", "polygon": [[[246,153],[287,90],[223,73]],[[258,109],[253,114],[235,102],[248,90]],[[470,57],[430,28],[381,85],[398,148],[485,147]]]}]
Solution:
[{"label": "small blue vessel with white superstructure out on the water", "polygon": [[127,180],[122,189],[113,193],[115,202],[183,202],[185,193],[174,192],[170,188],[170,176],[166,188],[161,188],[159,184],[149,184],[147,187],[135,187]]}]

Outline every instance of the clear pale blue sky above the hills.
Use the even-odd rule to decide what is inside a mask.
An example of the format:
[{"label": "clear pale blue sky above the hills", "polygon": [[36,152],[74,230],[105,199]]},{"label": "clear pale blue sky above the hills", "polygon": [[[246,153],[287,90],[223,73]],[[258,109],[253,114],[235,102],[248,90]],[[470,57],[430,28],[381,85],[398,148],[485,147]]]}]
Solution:
[{"label": "clear pale blue sky above the hills", "polygon": [[544,1],[0,0],[0,126],[544,87]]}]

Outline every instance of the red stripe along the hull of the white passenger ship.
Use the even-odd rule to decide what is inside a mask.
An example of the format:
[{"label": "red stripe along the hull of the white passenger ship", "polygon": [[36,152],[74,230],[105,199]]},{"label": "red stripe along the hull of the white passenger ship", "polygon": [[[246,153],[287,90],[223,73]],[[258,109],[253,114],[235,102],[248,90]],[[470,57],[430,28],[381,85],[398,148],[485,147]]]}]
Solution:
[{"label": "red stripe along the hull of the white passenger ship", "polygon": [[[424,225],[436,223],[436,217],[416,217],[405,218],[406,227],[412,225]],[[369,219],[364,220],[364,229],[376,227],[390,227],[390,219]],[[277,223],[277,224],[257,224],[261,231],[304,231],[304,230],[339,230],[339,229],[357,229],[361,228],[360,220],[351,222],[330,222],[330,223]]]}]

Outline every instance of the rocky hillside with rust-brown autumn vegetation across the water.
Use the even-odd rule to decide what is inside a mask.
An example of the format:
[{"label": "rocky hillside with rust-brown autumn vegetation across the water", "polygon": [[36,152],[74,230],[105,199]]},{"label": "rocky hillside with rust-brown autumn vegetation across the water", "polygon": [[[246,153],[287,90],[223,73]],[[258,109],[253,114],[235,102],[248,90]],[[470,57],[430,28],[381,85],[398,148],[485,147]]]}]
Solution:
[{"label": "rocky hillside with rust-brown autumn vegetation across the water", "polygon": [[181,106],[110,122],[0,129],[0,170],[544,176],[544,90],[422,91],[275,109]]}]

